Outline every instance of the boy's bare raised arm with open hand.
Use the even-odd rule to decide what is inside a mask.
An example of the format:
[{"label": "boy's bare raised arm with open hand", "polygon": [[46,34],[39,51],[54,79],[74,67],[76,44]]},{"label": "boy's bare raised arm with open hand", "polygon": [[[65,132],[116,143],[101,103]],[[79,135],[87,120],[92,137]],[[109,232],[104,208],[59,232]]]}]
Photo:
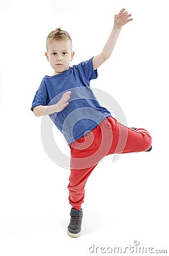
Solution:
[{"label": "boy's bare raised arm with open hand", "polygon": [[133,20],[129,19],[130,16],[132,16],[132,14],[128,14],[128,11],[125,11],[125,9],[121,9],[120,13],[115,15],[114,26],[107,43],[105,44],[102,52],[99,55],[96,55],[92,60],[94,70],[99,68],[100,65],[102,65],[104,61],[111,56],[122,26]]}]

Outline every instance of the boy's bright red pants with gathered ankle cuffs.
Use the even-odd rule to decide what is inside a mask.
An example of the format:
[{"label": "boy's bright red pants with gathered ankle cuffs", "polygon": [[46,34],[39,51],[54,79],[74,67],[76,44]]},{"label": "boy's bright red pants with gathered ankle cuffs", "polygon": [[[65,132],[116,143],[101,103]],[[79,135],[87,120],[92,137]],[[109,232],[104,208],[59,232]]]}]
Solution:
[{"label": "boy's bright red pants with gathered ankle cuffs", "polygon": [[70,144],[69,203],[81,209],[88,176],[104,156],[146,151],[150,146],[151,136],[145,129],[133,130],[113,117],[105,118],[95,129]]}]

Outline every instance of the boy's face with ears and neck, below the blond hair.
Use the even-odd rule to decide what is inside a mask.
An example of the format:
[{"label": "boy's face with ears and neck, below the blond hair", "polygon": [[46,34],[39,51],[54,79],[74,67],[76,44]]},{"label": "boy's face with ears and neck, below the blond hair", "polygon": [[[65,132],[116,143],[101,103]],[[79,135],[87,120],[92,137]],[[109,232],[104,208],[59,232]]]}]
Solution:
[{"label": "boy's face with ears and neck, below the blond hair", "polygon": [[45,52],[45,55],[51,67],[54,69],[54,75],[58,75],[69,69],[74,52],[71,51],[69,40],[53,40],[48,43],[48,52]]}]

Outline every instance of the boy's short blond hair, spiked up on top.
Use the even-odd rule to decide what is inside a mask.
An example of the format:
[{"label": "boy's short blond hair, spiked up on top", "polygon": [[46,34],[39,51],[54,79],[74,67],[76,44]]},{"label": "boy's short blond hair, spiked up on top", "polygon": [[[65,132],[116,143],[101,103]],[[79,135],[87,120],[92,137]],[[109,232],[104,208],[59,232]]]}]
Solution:
[{"label": "boy's short blond hair, spiked up on top", "polygon": [[72,47],[72,41],[69,33],[66,30],[61,30],[60,27],[57,27],[56,30],[53,30],[47,36],[47,51],[48,51],[48,43],[52,42],[53,40],[69,40]]}]

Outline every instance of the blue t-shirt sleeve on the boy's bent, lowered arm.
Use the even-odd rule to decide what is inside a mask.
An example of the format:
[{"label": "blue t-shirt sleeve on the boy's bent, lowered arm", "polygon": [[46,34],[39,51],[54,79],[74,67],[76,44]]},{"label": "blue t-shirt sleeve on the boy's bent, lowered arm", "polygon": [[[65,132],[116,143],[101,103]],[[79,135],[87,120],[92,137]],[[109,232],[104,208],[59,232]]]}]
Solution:
[{"label": "blue t-shirt sleeve on the boy's bent, lowered arm", "polygon": [[47,86],[45,84],[45,81],[43,80],[39,86],[39,89],[37,90],[35,97],[33,98],[32,107],[31,110],[36,106],[47,106],[49,103],[49,96],[48,96],[48,90]]}]

